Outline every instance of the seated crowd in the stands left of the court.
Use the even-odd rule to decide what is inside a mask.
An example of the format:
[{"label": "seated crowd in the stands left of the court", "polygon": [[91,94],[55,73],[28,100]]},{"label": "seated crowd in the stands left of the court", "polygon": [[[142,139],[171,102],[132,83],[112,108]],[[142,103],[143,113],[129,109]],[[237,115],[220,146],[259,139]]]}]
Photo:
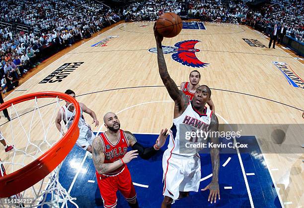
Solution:
[{"label": "seated crowd in the stands left of the court", "polygon": [[0,27],[0,79],[3,93],[18,86],[18,80],[52,53],[89,38],[120,20],[103,4],[90,0],[0,1],[0,21],[21,24],[28,31]]}]

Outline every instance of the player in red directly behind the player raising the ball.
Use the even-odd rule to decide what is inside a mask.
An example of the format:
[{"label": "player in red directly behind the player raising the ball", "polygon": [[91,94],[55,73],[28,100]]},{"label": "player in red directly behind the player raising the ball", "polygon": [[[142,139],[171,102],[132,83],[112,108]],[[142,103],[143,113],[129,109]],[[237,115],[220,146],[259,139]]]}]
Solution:
[{"label": "player in red directly behind the player raising the ball", "polygon": [[[189,75],[189,82],[180,83],[180,90],[187,96],[189,101],[192,101],[196,89],[200,86],[199,82],[201,80],[201,74],[198,70],[193,70]],[[210,98],[207,102],[210,109],[215,113],[215,106]]]}]

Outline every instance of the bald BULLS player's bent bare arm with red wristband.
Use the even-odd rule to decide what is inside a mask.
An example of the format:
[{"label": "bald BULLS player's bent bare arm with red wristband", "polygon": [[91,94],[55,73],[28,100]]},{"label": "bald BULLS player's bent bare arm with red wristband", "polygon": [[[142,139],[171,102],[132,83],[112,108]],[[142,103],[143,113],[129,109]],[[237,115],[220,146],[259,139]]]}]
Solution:
[{"label": "bald BULLS player's bent bare arm with red wristband", "polygon": [[93,163],[99,174],[111,172],[122,166],[124,163],[130,162],[133,158],[137,157],[138,154],[136,152],[136,150],[130,151],[126,153],[122,159],[111,163],[104,163],[104,148],[102,141],[99,137],[96,137],[92,142]]}]

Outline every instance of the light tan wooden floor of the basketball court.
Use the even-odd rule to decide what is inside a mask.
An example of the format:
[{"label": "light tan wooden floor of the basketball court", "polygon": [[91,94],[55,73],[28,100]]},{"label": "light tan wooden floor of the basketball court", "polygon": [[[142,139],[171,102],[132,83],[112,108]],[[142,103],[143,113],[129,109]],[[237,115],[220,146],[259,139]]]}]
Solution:
[{"label": "light tan wooden floor of the basketball court", "polygon": [[[250,46],[243,39],[257,40],[265,46],[268,46],[268,40],[246,26],[204,24],[206,30],[183,29],[177,37],[165,38],[162,44],[173,47],[181,41],[199,40],[195,49],[200,52],[195,54],[208,64],[200,68],[185,66],[174,61],[171,54],[165,54],[169,74],[179,85],[188,80],[192,70],[199,70],[202,75],[200,84],[212,89],[220,123],[298,124],[300,136],[288,141],[295,145],[294,151],[265,154],[265,157],[282,201],[292,202],[286,207],[303,206],[304,85],[302,88],[290,85],[273,61],[286,63],[289,71],[302,78],[302,82],[303,64],[278,46],[275,50]],[[116,25],[45,66],[9,94],[5,101],[38,91],[72,89],[77,100],[94,110],[101,121],[99,127],[93,127],[94,131],[105,130],[102,117],[108,111],[118,113],[121,128],[131,132],[158,133],[161,128],[170,128],[173,102],[159,77],[156,53],[149,52],[156,47],[152,27],[153,22]],[[66,72],[54,76],[60,67],[66,67]],[[27,105],[19,107],[20,112],[29,108]],[[42,111],[45,117],[51,117],[51,111]],[[30,119],[30,116],[23,115],[23,119]],[[89,116],[85,115],[85,118],[91,121]],[[9,123],[4,120],[0,120],[0,128],[4,135],[9,135]],[[32,127],[32,132],[36,135],[34,140],[41,140],[37,136],[42,134],[38,123]],[[51,125],[50,132],[58,134],[55,125]],[[267,134],[260,132],[261,135],[264,133]],[[26,140],[19,137],[23,136],[16,132],[18,141],[15,145],[22,149]],[[7,140],[10,141],[10,137]],[[278,144],[261,144],[263,150],[275,145]],[[0,151],[0,158],[9,158],[12,154],[4,155],[3,152]]]}]

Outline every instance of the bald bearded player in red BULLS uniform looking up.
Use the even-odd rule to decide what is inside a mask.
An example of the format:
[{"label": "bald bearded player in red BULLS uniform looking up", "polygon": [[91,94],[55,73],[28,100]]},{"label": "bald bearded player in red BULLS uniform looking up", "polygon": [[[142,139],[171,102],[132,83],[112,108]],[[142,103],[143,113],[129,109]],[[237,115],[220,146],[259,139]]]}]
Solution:
[{"label": "bald bearded player in red BULLS uniform looking up", "polygon": [[[93,140],[92,149],[97,183],[104,207],[116,207],[116,192],[119,190],[131,208],[138,208],[137,195],[126,164],[137,155],[143,159],[155,155],[165,143],[168,136],[167,129],[161,130],[153,147],[144,148],[131,132],[120,129],[120,121],[115,113],[106,113],[103,121],[107,131]],[[127,152],[129,146],[133,151]]]}]

